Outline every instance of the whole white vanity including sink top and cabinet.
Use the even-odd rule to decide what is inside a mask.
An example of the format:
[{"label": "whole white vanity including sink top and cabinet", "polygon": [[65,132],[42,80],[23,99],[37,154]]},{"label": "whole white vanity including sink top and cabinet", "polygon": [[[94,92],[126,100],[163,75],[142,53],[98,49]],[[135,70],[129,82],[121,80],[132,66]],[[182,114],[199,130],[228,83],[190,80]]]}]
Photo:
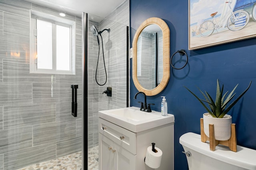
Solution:
[{"label": "whole white vanity including sink top and cabinet", "polygon": [[174,115],[126,107],[99,111],[99,170],[152,170],[144,158],[151,143],[162,150],[158,170],[174,169]]}]

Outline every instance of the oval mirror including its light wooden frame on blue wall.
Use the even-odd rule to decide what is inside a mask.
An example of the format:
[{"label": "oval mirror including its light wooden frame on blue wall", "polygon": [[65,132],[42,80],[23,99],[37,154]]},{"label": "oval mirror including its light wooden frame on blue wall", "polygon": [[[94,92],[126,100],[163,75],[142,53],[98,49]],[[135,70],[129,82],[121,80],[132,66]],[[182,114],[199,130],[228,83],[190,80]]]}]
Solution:
[{"label": "oval mirror including its light wooden frame on blue wall", "polygon": [[170,79],[170,30],[160,18],[148,18],[132,42],[132,79],[147,96],[159,94]]}]

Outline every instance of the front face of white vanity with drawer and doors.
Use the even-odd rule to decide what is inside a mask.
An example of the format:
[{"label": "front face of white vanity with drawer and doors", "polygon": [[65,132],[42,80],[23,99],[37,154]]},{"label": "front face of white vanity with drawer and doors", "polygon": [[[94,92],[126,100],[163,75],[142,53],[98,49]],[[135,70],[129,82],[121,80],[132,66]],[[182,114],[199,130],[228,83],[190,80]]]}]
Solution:
[{"label": "front face of white vanity with drawer and doors", "polygon": [[[99,118],[99,170],[135,170],[136,134]],[[126,148],[126,149],[124,149]]]}]

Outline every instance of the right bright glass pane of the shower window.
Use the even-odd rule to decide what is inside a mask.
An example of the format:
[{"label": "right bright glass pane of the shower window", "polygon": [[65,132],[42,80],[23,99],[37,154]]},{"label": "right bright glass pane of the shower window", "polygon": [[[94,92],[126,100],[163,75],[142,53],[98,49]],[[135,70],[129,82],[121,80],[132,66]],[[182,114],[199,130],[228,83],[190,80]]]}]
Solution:
[{"label": "right bright glass pane of the shower window", "polygon": [[70,27],[56,25],[56,69],[70,70]]}]

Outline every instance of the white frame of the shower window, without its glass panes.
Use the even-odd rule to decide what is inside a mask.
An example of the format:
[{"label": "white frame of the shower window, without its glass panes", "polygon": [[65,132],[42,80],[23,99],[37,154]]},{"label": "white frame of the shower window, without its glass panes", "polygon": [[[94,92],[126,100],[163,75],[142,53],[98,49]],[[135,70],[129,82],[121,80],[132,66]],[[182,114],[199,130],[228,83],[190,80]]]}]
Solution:
[{"label": "white frame of the shower window, without its glass panes", "polygon": [[[66,20],[57,16],[44,14],[30,10],[30,73],[46,74],[75,74],[75,21]],[[36,47],[36,20],[43,20],[52,23],[52,69],[37,68],[37,47]],[[56,69],[56,25],[70,27],[70,70]]]}]

